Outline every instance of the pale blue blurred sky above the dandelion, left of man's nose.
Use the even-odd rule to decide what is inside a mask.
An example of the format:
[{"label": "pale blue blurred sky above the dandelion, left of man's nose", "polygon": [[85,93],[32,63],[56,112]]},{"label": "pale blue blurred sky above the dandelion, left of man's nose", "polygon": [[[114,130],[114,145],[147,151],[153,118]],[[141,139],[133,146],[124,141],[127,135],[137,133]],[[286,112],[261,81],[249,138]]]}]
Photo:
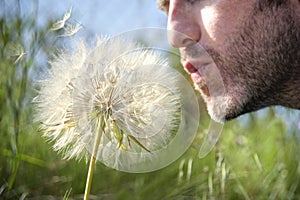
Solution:
[{"label": "pale blue blurred sky above the dandelion, left of man's nose", "polygon": [[[21,10],[21,16],[24,17],[37,11],[36,20],[39,26],[45,26],[49,20],[54,22],[61,20],[64,14],[72,8],[68,22],[79,23],[83,26],[72,38],[83,36],[88,40],[89,36],[115,36],[131,31],[128,38],[142,39],[144,44],[148,43],[158,48],[171,48],[165,30],[136,31],[136,29],[149,27],[166,28],[167,16],[158,9],[157,0],[20,0],[20,6],[14,4],[15,1],[3,1],[5,3],[2,5],[5,7],[1,8],[0,3],[0,15],[1,10],[4,9],[18,13],[18,7]],[[65,43],[69,37],[66,39],[60,41]],[[39,53],[39,62],[45,63],[47,56],[41,53]]]}]

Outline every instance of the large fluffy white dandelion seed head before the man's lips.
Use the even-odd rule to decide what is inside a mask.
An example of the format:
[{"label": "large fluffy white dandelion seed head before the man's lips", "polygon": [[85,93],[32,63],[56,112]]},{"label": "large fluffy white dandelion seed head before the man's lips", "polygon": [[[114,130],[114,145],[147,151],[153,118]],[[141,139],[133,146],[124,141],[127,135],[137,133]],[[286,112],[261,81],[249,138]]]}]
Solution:
[{"label": "large fluffy white dandelion seed head before the man's lips", "polygon": [[[151,69],[153,64],[162,69]],[[102,144],[115,149],[122,142],[116,128],[122,137],[142,139],[153,149],[153,141],[148,140],[175,126],[170,123],[174,118],[170,115],[179,109],[175,78],[167,75],[166,62],[153,51],[122,39],[98,38],[95,48],[81,41],[75,51],[62,51],[50,65],[34,99],[35,118],[42,122],[44,136],[54,141],[54,150],[65,158],[88,155],[100,117],[105,121],[103,138],[107,138]],[[174,83],[173,94],[166,87],[170,83]],[[126,145],[128,150],[133,144]]]}]

